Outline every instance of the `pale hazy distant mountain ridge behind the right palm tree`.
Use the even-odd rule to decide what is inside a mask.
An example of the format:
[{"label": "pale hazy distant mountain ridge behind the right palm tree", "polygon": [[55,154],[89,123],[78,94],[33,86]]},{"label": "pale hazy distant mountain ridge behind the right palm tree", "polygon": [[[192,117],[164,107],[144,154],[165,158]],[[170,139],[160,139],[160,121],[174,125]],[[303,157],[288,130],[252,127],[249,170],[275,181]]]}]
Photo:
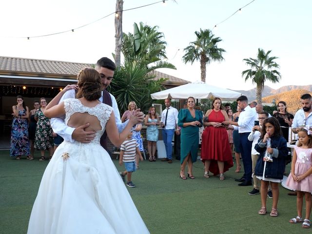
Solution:
[{"label": "pale hazy distant mountain ridge behind the right palm tree", "polygon": [[[283,92],[291,91],[291,90],[308,90],[309,92],[312,92],[312,85],[287,85],[287,86],[282,86],[279,89],[272,89],[269,86],[265,85],[263,92],[262,92],[262,98],[274,95],[274,94],[280,94]],[[243,95],[248,97],[248,100],[252,101],[255,100],[255,92],[256,89],[250,89],[250,90],[234,90],[236,92],[242,93]]]}]

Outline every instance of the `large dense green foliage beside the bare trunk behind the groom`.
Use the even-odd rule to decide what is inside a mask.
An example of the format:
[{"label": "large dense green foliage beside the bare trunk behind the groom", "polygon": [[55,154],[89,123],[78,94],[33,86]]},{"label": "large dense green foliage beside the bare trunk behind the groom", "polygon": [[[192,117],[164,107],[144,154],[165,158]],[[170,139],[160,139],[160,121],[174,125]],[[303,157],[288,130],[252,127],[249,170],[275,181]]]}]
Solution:
[{"label": "large dense green foliage beside the bare trunk behind the groom", "polygon": [[118,103],[120,114],[128,109],[130,101],[135,101],[141,111],[147,112],[152,105],[151,94],[164,89],[162,83],[166,80],[154,80],[154,70],[157,68],[176,67],[161,59],[166,58],[166,44],[163,33],[157,31],[157,26],[150,27],[140,22],[134,23],[134,33],[123,34],[121,52],[125,62],[115,72],[109,87]]}]

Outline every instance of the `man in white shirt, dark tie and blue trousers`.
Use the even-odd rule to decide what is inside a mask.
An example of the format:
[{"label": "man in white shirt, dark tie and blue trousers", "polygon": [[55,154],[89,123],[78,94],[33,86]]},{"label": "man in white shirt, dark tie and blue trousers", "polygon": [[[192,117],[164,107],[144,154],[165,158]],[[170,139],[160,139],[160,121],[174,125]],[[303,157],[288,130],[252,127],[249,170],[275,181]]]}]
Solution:
[{"label": "man in white shirt, dark tie and blue trousers", "polygon": [[174,137],[175,129],[177,134],[179,134],[179,129],[177,128],[178,111],[171,106],[171,100],[169,98],[165,99],[165,106],[166,109],[161,113],[160,126],[162,127],[162,139],[165,144],[167,156],[161,161],[172,163],[172,138]]}]

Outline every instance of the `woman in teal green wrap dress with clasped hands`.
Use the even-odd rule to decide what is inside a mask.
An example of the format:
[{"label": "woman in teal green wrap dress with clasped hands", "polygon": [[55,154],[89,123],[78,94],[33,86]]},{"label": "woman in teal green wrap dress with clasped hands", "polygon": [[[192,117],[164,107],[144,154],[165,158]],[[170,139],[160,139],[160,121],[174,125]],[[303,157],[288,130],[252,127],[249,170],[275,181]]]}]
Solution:
[{"label": "woman in teal green wrap dress with clasped hands", "polygon": [[195,179],[193,176],[193,162],[197,159],[198,151],[198,132],[203,125],[203,114],[201,111],[195,110],[195,98],[187,99],[187,109],[181,109],[178,114],[177,125],[181,127],[181,171],[180,178],[187,179],[184,175],[186,164],[188,165],[188,177]]}]

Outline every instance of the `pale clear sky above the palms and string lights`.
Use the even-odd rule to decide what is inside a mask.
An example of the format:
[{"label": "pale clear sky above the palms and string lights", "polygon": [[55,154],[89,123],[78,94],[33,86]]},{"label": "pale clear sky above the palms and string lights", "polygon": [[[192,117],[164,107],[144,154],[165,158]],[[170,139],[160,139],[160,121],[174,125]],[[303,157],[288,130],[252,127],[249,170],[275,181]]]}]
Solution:
[{"label": "pale clear sky above the palms and string lights", "polygon": [[[124,0],[130,9],[158,0]],[[310,0],[168,0],[123,12],[122,30],[133,33],[133,24],[158,26],[167,41],[168,62],[176,70],[158,71],[188,81],[200,80],[199,62],[185,64],[182,56],[195,31],[213,29],[226,50],[224,61],[207,65],[206,82],[234,90],[255,87],[242,78],[248,69],[243,59],[256,58],[258,48],[272,50],[280,65],[281,81],[265,85],[310,85],[312,55],[312,1]],[[1,0],[0,56],[96,63],[101,57],[113,59],[115,51],[116,0]],[[30,38],[77,28],[74,32]],[[218,24],[214,28],[215,24]],[[21,37],[21,38],[20,38]]]}]

